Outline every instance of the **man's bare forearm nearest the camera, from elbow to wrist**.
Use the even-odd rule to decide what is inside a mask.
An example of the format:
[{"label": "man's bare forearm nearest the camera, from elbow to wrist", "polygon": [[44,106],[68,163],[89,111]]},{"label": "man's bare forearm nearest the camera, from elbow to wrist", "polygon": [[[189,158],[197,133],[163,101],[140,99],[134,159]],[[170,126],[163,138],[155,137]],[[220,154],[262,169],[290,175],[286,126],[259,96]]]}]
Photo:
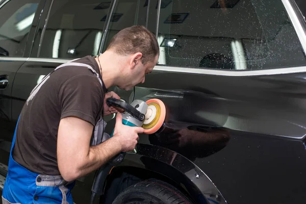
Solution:
[{"label": "man's bare forearm nearest the camera, from elbow to wrist", "polygon": [[78,168],[78,177],[82,177],[107,163],[111,158],[118,155],[121,150],[116,138],[110,138],[105,142],[91,146],[88,155],[82,159]]}]

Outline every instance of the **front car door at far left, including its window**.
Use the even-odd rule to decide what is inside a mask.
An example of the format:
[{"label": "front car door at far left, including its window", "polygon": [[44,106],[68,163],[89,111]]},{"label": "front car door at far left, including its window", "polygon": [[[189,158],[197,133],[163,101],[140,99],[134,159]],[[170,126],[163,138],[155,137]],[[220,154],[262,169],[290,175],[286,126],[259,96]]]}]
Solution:
[{"label": "front car door at far left, including its window", "polygon": [[[16,119],[12,118],[15,74],[30,55],[33,34],[44,0],[10,0],[0,3],[0,131],[1,140],[12,141]],[[2,147],[9,150],[9,145]]]}]

